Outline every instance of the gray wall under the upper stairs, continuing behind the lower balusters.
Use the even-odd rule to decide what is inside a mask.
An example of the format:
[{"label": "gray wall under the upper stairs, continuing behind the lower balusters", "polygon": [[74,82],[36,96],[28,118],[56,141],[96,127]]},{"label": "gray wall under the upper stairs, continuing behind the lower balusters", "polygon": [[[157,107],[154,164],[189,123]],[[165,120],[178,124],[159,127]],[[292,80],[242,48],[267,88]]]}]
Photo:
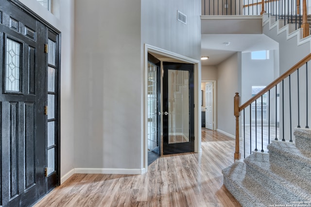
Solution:
[{"label": "gray wall under the upper stairs, continuing behind the lower balusters", "polygon": [[[294,64],[298,63],[301,59],[307,56],[310,53],[310,42],[304,43],[300,46],[297,45],[297,38],[287,40],[286,32],[277,34],[276,28],[269,30],[268,24],[263,28],[263,33],[267,36],[274,39],[279,43],[279,75],[282,75],[288,69],[290,69]],[[305,127],[306,125],[306,70],[305,66],[299,69],[299,94],[300,94],[300,125]],[[275,74],[276,75],[276,74]],[[309,80],[311,78],[310,73],[308,74]],[[298,102],[297,102],[297,72],[291,75],[291,106],[292,106],[292,126],[290,127],[290,99],[289,99],[289,80],[284,80],[284,138],[286,140],[290,139],[290,130],[294,131],[294,127],[297,127],[298,124]],[[280,121],[280,137],[283,137],[283,94],[282,94],[282,85],[278,85],[279,90],[279,121]],[[309,99],[311,100],[310,96]],[[309,100],[309,103],[310,103]],[[310,118],[309,118],[310,122]],[[294,140],[294,136],[292,136]]]}]

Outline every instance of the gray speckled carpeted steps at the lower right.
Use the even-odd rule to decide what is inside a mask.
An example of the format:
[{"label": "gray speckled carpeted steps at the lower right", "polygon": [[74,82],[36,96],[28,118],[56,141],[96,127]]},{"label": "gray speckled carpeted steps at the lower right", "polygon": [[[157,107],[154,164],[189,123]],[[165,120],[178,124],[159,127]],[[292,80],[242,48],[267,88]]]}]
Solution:
[{"label": "gray speckled carpeted steps at the lower right", "polygon": [[223,170],[224,185],[243,207],[311,207],[311,129],[294,131],[295,143],[273,141]]}]

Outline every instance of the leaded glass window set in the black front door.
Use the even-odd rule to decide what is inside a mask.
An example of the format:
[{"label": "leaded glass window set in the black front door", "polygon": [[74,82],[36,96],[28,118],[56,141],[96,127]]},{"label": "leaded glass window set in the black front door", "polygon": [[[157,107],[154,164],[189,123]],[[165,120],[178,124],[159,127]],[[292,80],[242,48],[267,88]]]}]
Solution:
[{"label": "leaded glass window set in the black front door", "polygon": [[6,39],[5,90],[21,92],[20,90],[20,43]]}]

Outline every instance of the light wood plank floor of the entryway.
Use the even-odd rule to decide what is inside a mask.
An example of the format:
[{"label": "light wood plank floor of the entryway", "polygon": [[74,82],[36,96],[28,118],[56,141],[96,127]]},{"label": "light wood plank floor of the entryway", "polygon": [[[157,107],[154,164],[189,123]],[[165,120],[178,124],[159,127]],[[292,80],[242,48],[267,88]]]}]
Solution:
[{"label": "light wood plank floor of the entryway", "polygon": [[144,175],[72,175],[35,207],[240,207],[223,186],[234,139],[202,128],[202,153],[162,156]]}]

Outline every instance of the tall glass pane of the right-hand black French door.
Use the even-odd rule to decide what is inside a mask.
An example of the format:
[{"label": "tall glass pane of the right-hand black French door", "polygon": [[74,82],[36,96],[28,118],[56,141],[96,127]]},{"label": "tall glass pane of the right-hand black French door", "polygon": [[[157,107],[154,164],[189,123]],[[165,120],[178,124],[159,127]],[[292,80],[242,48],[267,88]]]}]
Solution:
[{"label": "tall glass pane of the right-hand black French door", "polygon": [[189,142],[189,71],[168,70],[169,144]]}]

